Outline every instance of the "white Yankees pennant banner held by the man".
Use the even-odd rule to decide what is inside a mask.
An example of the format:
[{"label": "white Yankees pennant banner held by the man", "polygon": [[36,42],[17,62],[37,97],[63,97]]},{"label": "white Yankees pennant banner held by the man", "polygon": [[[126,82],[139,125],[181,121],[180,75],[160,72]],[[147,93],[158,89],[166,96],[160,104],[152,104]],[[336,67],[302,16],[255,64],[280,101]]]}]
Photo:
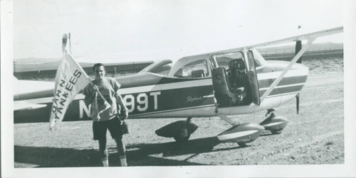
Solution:
[{"label": "white Yankees pennant banner held by the man", "polygon": [[76,94],[90,83],[88,75],[74,61],[67,50],[63,51],[63,59],[56,73],[53,104],[50,116],[50,129],[63,120],[70,102]]}]

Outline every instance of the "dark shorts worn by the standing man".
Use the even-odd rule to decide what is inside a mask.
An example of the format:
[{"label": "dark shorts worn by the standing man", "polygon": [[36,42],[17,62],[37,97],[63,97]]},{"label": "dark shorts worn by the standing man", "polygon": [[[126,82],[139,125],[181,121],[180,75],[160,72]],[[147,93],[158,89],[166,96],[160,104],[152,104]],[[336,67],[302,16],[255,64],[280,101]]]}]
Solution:
[{"label": "dark shorts worn by the standing man", "polygon": [[106,130],[109,130],[113,139],[122,139],[121,121],[118,117],[112,118],[108,121],[93,121],[94,140],[105,139]]}]

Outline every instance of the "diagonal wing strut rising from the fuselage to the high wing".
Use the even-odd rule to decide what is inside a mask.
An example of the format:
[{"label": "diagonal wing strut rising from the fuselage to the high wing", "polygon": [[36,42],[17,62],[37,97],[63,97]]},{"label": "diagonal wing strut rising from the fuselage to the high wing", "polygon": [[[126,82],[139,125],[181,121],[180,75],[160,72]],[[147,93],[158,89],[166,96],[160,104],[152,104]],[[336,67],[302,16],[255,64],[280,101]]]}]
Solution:
[{"label": "diagonal wing strut rising from the fuselage to the high wing", "polygon": [[290,61],[289,65],[286,67],[286,69],[283,70],[283,72],[278,76],[278,78],[273,82],[273,84],[271,84],[271,87],[269,87],[267,89],[267,91],[263,94],[263,96],[261,97],[261,103],[264,99],[266,99],[266,97],[271,94],[272,90],[274,89],[274,87],[277,86],[277,84],[279,82],[281,82],[281,79],[283,79],[284,75],[286,75],[286,73],[288,72],[288,70],[290,68],[292,68],[292,66],[295,64],[295,62],[297,62],[297,60],[304,54],[304,52],[306,50],[308,50],[308,48],[310,47],[310,45],[313,43],[313,41],[315,40],[315,38],[308,38],[308,43],[306,45],[303,46],[303,48],[298,52],[297,55],[295,55],[295,57],[293,57],[293,59]]}]

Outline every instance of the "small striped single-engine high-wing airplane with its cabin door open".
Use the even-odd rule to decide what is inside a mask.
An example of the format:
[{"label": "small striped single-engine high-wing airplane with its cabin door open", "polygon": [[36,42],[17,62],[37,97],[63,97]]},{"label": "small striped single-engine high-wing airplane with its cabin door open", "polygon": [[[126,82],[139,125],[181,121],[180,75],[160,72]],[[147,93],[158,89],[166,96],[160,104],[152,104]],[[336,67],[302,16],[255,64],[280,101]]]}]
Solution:
[{"label": "small striped single-engine high-wing airplane with its cabin door open", "polygon": [[[231,128],[217,135],[222,142],[251,145],[263,130],[281,133],[288,119],[273,109],[297,97],[308,77],[308,67],[298,63],[315,38],[341,33],[342,27],[298,35],[269,43],[159,60],[137,74],[115,78],[129,109],[129,118],[187,118],[156,130],[157,135],[188,140],[197,129],[194,117],[218,116]],[[301,40],[306,40],[303,45]],[[266,61],[256,48],[296,41],[290,61]],[[63,38],[63,45],[66,39]],[[48,121],[53,82],[21,81],[14,84],[14,122]],[[63,121],[88,120],[90,109],[83,94],[72,101]],[[261,123],[236,123],[227,116],[267,110]]]}]

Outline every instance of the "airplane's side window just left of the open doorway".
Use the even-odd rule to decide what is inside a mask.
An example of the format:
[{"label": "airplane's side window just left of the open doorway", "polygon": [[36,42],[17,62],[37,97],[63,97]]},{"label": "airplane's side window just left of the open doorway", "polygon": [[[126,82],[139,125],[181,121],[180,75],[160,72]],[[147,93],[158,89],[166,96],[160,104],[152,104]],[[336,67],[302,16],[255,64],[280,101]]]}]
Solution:
[{"label": "airplane's side window just left of the open doorway", "polygon": [[208,77],[209,70],[206,60],[197,60],[184,65],[173,75],[180,78],[199,78]]}]

